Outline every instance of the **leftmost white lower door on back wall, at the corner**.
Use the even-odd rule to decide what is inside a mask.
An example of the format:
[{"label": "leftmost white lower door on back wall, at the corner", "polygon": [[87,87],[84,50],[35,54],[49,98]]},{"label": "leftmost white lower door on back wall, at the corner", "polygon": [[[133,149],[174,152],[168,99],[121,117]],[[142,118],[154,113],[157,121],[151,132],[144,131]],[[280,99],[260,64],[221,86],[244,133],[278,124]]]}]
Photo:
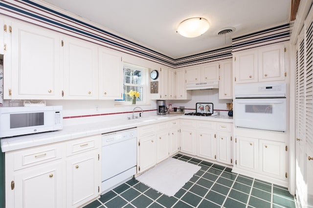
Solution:
[{"label": "leftmost white lower door on back wall, at the corner", "polygon": [[191,155],[196,155],[196,131],[194,129],[183,128],[180,130],[180,151]]}]

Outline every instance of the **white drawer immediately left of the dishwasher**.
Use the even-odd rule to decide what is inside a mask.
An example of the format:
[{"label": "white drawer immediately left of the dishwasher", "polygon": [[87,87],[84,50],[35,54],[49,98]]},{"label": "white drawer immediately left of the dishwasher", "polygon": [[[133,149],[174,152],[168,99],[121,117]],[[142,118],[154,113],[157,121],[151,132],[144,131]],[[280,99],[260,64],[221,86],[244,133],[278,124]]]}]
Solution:
[{"label": "white drawer immediately left of the dishwasher", "polygon": [[87,136],[81,139],[69,141],[67,142],[67,156],[95,150],[98,148],[100,141],[100,135]]}]

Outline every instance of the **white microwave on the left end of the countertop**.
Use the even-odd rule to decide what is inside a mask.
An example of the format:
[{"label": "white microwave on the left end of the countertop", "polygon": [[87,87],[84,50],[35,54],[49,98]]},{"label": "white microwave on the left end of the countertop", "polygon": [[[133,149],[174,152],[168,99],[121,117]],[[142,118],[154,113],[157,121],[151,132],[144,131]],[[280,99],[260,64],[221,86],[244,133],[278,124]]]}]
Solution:
[{"label": "white microwave on the left end of the countertop", "polygon": [[62,106],[0,107],[0,137],[63,129]]}]

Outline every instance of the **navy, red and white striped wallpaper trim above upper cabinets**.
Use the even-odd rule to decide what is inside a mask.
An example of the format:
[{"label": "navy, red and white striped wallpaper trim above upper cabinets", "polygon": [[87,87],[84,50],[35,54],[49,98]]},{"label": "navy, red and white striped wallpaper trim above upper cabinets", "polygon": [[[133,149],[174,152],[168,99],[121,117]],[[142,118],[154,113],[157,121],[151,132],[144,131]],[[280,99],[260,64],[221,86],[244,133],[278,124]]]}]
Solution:
[{"label": "navy, red and white striped wallpaper trim above upper cabinets", "polygon": [[200,54],[171,58],[126,38],[106,31],[101,26],[77,19],[30,0],[1,0],[0,15],[27,22],[75,38],[93,42],[174,69],[232,58],[232,52],[288,41],[290,26],[284,24],[245,36],[233,38],[232,45]]}]

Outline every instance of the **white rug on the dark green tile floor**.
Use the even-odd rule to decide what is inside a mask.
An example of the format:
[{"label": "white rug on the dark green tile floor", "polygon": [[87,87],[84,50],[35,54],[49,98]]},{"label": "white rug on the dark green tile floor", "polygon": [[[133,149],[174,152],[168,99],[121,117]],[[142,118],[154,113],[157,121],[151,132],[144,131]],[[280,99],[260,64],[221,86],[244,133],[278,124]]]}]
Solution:
[{"label": "white rug on the dark green tile floor", "polygon": [[174,196],[200,169],[200,166],[168,158],[151,170],[139,175],[136,179],[158,192],[167,196]]}]

